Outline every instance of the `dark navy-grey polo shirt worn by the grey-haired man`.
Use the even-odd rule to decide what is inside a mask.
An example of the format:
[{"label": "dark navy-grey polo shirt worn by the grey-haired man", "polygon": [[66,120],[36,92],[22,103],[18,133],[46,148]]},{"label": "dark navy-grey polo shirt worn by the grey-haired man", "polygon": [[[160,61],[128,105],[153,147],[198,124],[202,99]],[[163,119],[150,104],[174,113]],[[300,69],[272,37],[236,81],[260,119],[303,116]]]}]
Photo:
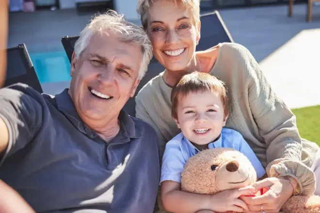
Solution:
[{"label": "dark navy-grey polo shirt worn by the grey-haired man", "polygon": [[155,130],[121,111],[106,143],[83,123],[65,89],[56,96],[17,84],[0,89],[9,130],[0,179],[36,212],[152,213],[159,179]]}]

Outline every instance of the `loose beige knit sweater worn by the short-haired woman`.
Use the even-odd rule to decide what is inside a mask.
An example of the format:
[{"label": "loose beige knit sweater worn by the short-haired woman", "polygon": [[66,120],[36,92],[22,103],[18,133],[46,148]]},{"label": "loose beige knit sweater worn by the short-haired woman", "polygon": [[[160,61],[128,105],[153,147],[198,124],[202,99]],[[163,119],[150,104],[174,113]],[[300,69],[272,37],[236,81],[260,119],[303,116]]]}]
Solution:
[{"label": "loose beige knit sweater worn by the short-haired woman", "polygon": [[[162,74],[150,80],[136,97],[136,117],[158,132],[161,157],[166,142],[180,132],[171,117],[172,88]],[[252,54],[239,44],[219,44],[210,74],[222,79],[228,89],[226,127],[242,134],[269,177],[292,176],[302,194],[312,194],[315,177],[310,167],[319,147],[300,138],[295,116],[272,91]]]}]

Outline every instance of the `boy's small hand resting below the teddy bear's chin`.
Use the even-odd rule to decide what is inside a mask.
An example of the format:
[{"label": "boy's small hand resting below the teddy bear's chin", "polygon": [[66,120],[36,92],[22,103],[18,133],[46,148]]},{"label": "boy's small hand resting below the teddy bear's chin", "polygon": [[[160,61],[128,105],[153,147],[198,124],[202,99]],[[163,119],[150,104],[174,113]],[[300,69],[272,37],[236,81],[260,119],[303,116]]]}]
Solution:
[{"label": "boy's small hand resting below the teddy bear's chin", "polygon": [[229,189],[212,195],[212,210],[217,212],[248,212],[249,208],[245,202],[239,199],[243,195],[253,195],[255,188],[247,186],[240,189]]}]

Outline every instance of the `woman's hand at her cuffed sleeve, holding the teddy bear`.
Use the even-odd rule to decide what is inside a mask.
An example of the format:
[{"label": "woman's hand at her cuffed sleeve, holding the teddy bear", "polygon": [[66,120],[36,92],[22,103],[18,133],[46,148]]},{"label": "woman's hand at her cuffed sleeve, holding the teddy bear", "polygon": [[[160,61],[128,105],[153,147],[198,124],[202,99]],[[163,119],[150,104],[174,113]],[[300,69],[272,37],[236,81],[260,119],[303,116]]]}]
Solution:
[{"label": "woman's hand at her cuffed sleeve, holding the teddy bear", "polygon": [[[245,197],[241,199],[248,205],[248,213],[278,213],[293,194],[291,183],[282,178],[266,178],[253,184],[256,190],[267,188],[267,191],[260,196]],[[261,208],[262,206],[262,208]]]}]

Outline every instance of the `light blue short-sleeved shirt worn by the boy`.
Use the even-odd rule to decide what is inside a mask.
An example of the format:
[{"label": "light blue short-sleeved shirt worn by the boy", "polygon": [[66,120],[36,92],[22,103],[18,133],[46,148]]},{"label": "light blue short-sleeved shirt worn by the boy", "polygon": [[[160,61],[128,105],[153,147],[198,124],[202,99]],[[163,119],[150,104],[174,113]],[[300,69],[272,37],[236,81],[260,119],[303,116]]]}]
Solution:
[{"label": "light blue short-sleeved shirt worn by the boy", "polygon": [[[257,178],[261,178],[266,173],[256,157],[256,154],[239,132],[228,128],[222,128],[219,139],[208,144],[209,149],[221,147],[233,148],[247,156],[253,167],[256,169]],[[199,152],[199,150],[193,146],[182,133],[172,138],[165,146],[162,158],[160,183],[163,181],[175,181],[180,183],[181,172],[184,165],[187,163],[188,159],[197,152]]]}]

